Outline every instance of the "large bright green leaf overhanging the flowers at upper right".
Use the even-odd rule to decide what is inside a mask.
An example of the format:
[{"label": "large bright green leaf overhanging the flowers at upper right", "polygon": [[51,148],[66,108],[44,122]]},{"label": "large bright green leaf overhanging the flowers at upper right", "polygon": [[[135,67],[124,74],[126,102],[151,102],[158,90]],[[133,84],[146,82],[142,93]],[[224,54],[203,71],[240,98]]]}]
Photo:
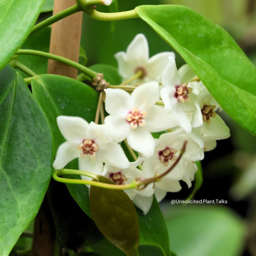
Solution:
[{"label": "large bright green leaf overhanging the flowers at upper right", "polygon": [[223,109],[256,135],[256,68],[234,39],[184,6],[145,5],[135,10],[181,54]]}]

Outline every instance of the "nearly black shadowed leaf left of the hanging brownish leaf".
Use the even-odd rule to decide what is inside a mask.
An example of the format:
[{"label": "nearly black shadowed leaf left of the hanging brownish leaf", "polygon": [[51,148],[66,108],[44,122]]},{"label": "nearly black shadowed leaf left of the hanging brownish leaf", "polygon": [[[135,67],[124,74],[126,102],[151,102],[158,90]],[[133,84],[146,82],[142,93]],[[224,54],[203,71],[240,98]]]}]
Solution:
[{"label": "nearly black shadowed leaf left of the hanging brownish leaf", "polygon": [[47,198],[62,245],[78,251],[82,245],[92,244],[103,238],[94,221],[71,197],[65,184],[52,180]]}]

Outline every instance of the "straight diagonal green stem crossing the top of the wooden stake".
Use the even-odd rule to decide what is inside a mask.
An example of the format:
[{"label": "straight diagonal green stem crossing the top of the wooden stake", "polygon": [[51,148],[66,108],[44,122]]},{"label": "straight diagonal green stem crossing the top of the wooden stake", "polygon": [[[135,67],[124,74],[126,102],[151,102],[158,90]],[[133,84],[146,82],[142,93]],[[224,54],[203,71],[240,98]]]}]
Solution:
[{"label": "straight diagonal green stem crossing the top of the wooden stake", "polygon": [[52,17],[47,18],[46,20],[38,23],[36,26],[33,27],[30,35],[38,32],[39,30],[42,30],[45,27],[48,27],[50,25],[52,25],[53,23],[62,20],[65,17],[68,17],[69,15],[72,15],[76,12],[82,11],[82,7],[80,5],[73,5],[55,15],[53,15]]}]

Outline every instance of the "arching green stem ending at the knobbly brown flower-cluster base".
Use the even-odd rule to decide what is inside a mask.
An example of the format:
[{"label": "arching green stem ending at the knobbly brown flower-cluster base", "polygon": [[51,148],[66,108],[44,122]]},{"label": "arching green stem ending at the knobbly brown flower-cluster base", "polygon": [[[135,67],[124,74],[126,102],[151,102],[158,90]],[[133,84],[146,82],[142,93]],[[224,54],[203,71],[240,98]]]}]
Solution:
[{"label": "arching green stem ending at the knobbly brown flower-cluster base", "polygon": [[95,71],[86,68],[85,66],[74,62],[73,60],[70,59],[66,59],[64,57],[52,54],[52,53],[47,53],[47,52],[42,52],[39,50],[29,50],[29,49],[21,49],[21,50],[17,50],[16,54],[18,55],[36,55],[36,56],[42,56],[42,57],[46,57],[49,59],[53,59],[53,60],[58,60],[59,62],[65,63],[69,66],[72,66],[75,69],[78,69],[80,72],[84,73],[85,75],[89,76],[89,78],[92,80],[94,79],[98,73],[96,73]]}]

